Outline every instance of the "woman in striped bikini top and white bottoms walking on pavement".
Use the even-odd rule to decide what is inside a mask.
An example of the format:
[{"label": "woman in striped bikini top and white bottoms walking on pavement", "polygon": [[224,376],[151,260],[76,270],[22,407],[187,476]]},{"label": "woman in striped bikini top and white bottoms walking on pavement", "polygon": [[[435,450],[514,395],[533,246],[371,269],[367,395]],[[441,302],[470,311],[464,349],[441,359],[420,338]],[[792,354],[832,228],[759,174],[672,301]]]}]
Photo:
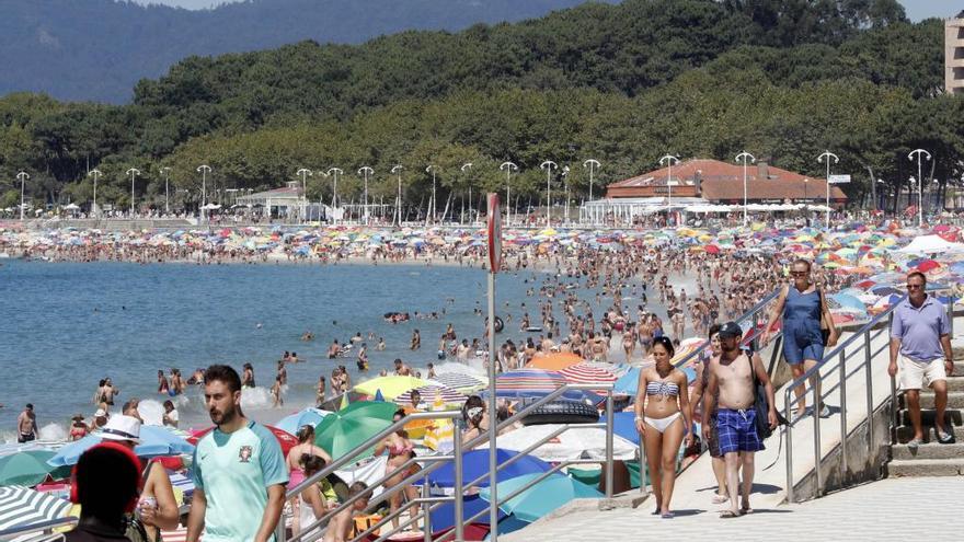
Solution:
[{"label": "woman in striped bikini top and white bottoms walking on pavement", "polygon": [[645,442],[650,480],[656,496],[653,514],[672,518],[669,500],[676,483],[676,458],[684,439],[687,446],[692,442],[692,413],[686,374],[669,362],[676,354],[669,337],[654,338],[652,354],[656,365],[640,371],[635,423]]}]

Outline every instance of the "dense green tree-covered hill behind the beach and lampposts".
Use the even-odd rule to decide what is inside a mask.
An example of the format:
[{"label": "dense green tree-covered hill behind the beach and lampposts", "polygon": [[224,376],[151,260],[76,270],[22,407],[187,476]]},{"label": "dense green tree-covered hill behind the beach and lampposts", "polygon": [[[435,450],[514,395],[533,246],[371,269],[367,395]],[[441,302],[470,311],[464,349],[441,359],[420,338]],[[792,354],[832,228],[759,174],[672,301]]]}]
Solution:
[{"label": "dense green tree-covered hill behind the beach and lampposts", "polygon": [[[525,204],[544,189],[543,160],[572,168],[565,182],[579,200],[587,158],[602,163],[600,184],[666,152],[733,160],[748,150],[823,176],[824,149],[860,200],[870,172],[885,191],[906,185],[918,147],[934,157],[930,177],[961,178],[964,100],[941,92],[942,28],[908,23],[892,0],[628,0],[455,34],[192,57],[138,83],[130,105],[0,100],[0,207],[16,205],[21,169],[34,198],[87,205],[85,173],[97,166],[99,199],[126,206],[131,166],[144,172],[139,201],[162,199],[169,166],[195,205],[202,163],[211,191],[338,166],[345,200],[359,197],[351,173],[362,165],[389,199],[389,171],[403,164],[405,198],[417,203],[428,164],[444,201],[469,185],[504,187],[497,166],[512,160]],[[474,164],[466,174],[464,162]],[[313,199],[330,192],[331,180],[309,178]]]}]

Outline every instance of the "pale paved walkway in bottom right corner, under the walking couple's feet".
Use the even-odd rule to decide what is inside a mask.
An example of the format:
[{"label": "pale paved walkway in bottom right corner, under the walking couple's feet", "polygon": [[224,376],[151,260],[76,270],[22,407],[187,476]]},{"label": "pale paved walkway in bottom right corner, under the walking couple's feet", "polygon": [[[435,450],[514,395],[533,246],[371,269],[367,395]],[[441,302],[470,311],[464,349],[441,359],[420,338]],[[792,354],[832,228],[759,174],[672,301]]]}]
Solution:
[{"label": "pale paved walkway in bottom right corner, under the walking couple's feet", "polygon": [[735,519],[720,519],[711,496],[708,492],[702,509],[677,510],[673,519],[652,516],[647,499],[635,510],[573,512],[501,535],[500,540],[962,540],[955,523],[955,510],[964,503],[961,476],[887,478],[807,503],[758,508]]}]

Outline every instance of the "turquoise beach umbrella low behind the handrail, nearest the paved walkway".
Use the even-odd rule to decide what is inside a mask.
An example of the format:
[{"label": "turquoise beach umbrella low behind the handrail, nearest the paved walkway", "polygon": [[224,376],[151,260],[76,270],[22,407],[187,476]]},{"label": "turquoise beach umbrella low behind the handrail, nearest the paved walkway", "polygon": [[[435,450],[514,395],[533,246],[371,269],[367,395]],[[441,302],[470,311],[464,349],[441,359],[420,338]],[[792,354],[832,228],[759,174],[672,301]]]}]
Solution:
[{"label": "turquoise beach umbrella low behind the handrail, nearest the paved walkway", "polygon": [[[497,494],[508,495],[538,476],[538,474],[527,474],[498,482]],[[483,487],[479,494],[487,500],[491,492],[487,487]],[[523,521],[532,522],[576,498],[602,498],[602,494],[577,480],[552,474],[510,498],[500,508]]]}]

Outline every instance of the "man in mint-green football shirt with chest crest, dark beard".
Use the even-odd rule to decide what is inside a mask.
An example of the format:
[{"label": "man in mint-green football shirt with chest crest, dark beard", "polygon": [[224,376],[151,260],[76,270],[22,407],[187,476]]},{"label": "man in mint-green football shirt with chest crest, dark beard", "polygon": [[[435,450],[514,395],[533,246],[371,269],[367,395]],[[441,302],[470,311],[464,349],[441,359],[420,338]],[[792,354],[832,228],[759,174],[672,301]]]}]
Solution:
[{"label": "man in mint-green football shirt with chest crest, dark beard", "polygon": [[217,426],[194,450],[194,498],[187,542],[273,541],[285,505],[288,471],[272,433],[241,412],[241,378],[213,365],[204,397]]}]

